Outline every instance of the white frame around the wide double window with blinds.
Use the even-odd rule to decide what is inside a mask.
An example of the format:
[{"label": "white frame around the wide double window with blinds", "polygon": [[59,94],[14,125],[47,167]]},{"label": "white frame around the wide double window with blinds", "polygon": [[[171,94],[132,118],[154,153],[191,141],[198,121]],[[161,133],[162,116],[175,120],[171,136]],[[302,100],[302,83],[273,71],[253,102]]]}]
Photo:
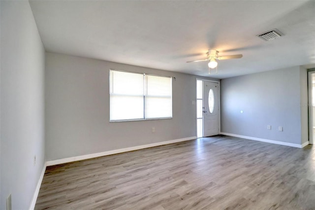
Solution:
[{"label": "white frame around the wide double window with blinds", "polygon": [[[161,75],[156,75],[156,74],[150,74],[150,73],[143,73],[143,72],[133,72],[133,71],[126,71],[126,70],[115,70],[115,69],[110,69],[109,70],[109,104],[110,104],[110,96],[111,94],[111,77],[110,77],[110,72],[111,71],[121,71],[121,72],[126,72],[126,73],[134,73],[134,74],[142,74],[143,75],[143,118],[138,118],[138,119],[122,119],[122,120],[111,120],[110,119],[110,114],[109,114],[109,122],[129,122],[129,121],[147,121],[147,120],[163,120],[163,119],[172,119],[173,118],[173,77],[172,76],[161,76]],[[156,117],[156,118],[146,118],[145,117],[145,97],[147,95],[147,80],[146,80],[146,75],[150,75],[150,76],[158,76],[158,77],[166,77],[166,78],[170,78],[171,81],[171,96],[170,96],[170,100],[171,100],[171,116],[170,117]],[[131,95],[130,95],[131,96]],[[166,97],[165,97],[166,98]],[[167,97],[169,98],[169,97]],[[110,105],[109,105],[109,113],[110,113]]]}]

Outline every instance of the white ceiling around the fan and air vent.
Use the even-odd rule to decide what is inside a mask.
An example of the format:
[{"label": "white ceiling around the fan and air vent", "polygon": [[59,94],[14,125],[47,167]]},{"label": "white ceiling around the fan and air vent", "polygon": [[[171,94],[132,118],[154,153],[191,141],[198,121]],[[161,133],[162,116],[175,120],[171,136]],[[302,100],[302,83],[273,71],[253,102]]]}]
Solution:
[{"label": "white ceiling around the fan and air vent", "polygon": [[[31,0],[48,52],[180,71],[231,76],[315,64],[315,1],[81,1]],[[256,35],[277,28],[284,36]],[[209,48],[219,55],[208,74]],[[315,67],[315,66],[314,66]]]}]

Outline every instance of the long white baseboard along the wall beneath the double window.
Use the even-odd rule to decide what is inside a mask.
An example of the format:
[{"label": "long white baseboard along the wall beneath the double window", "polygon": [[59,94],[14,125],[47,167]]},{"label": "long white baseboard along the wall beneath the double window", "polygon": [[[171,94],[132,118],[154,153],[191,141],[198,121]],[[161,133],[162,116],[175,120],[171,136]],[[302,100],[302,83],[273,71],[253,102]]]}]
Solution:
[{"label": "long white baseboard along the wall beneath the double window", "polygon": [[52,161],[47,161],[46,165],[47,166],[53,166],[53,165],[57,165],[57,164],[69,163],[69,162],[78,161],[78,160],[86,160],[86,159],[95,158],[95,157],[113,155],[113,154],[118,154],[118,153],[122,153],[122,152],[129,152],[129,151],[133,151],[133,150],[144,149],[144,148],[149,148],[149,147],[154,147],[154,146],[160,146],[160,145],[165,145],[165,144],[170,144],[170,143],[177,143],[177,142],[186,141],[186,140],[193,140],[193,139],[197,139],[197,137],[188,137],[188,138],[177,139],[177,140],[168,140],[168,141],[150,143],[150,144],[145,144],[145,145],[140,145],[140,146],[132,146],[132,147],[127,147],[127,148],[122,148],[122,149],[115,149],[115,150],[110,150],[110,151],[105,151],[105,152],[99,152],[99,153],[94,153],[94,154],[63,158],[63,159],[59,159],[59,160],[52,160]]}]

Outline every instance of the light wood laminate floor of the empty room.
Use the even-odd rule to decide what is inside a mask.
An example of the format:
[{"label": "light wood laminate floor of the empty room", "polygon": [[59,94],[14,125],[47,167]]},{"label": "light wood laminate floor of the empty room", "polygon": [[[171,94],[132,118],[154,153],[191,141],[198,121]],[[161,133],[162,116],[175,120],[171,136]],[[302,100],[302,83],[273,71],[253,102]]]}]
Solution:
[{"label": "light wood laminate floor of the empty room", "polygon": [[47,167],[41,209],[315,209],[315,150],[217,136]]}]

